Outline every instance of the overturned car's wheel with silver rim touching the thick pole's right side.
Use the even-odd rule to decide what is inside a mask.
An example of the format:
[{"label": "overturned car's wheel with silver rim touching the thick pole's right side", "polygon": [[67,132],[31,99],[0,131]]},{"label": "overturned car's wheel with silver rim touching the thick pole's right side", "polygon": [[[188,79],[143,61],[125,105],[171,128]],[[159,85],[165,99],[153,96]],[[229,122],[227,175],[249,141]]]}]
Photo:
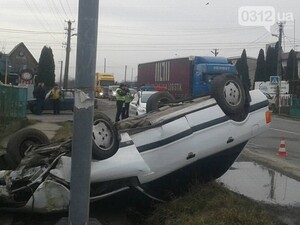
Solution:
[{"label": "overturned car's wheel with silver rim touching the thick pole's right side", "polygon": [[98,112],[93,124],[93,157],[98,160],[112,157],[119,149],[119,134],[111,119]]}]

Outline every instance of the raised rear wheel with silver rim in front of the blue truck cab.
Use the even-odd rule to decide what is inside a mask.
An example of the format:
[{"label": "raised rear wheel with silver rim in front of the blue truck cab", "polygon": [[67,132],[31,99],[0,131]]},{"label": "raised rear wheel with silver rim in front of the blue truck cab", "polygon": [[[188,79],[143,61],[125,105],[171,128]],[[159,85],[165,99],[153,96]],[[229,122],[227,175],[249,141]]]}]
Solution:
[{"label": "raised rear wheel with silver rim in front of the blue truck cab", "polygon": [[212,81],[211,96],[226,115],[238,114],[244,110],[245,89],[239,78],[232,74],[216,76]]}]

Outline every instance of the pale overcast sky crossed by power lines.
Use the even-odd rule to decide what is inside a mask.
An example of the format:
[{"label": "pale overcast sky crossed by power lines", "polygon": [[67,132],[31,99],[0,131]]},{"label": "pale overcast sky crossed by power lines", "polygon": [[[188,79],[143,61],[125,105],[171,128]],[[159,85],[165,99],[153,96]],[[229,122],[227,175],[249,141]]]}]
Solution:
[{"label": "pale overcast sky crossed by power lines", "polygon": [[[299,9],[299,0],[100,0],[96,71],[103,72],[106,61],[106,72],[122,81],[127,65],[127,80],[131,80],[139,63],[213,56],[213,49],[218,49],[219,56],[232,57],[245,48],[248,56],[256,58],[265,44],[278,40],[272,36],[278,34],[274,24],[278,19],[286,21],[284,50],[294,46],[299,50]],[[39,61],[43,46],[49,46],[58,80],[59,61],[65,61],[66,55],[66,21],[72,21],[75,34],[78,0],[1,0],[0,15],[0,51],[8,53],[24,42]],[[270,32],[262,26],[266,24],[274,24]],[[75,77],[76,46],[73,36],[71,78]]]}]

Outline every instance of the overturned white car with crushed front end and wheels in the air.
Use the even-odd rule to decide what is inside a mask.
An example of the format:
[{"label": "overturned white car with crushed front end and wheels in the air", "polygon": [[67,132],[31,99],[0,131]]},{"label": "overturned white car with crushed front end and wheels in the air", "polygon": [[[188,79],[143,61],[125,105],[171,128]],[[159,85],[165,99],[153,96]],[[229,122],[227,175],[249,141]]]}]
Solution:
[{"label": "overturned white car with crushed front end and wheels in the air", "polygon": [[[159,105],[159,95],[149,98],[153,109]],[[245,93],[232,75],[215,78],[211,95],[171,103],[115,124],[96,114],[91,201],[130,188],[158,198],[157,193],[191,178],[205,182],[223,175],[247,141],[268,129],[270,114],[265,95],[259,90]],[[35,146],[47,143],[43,134],[21,133],[22,137],[16,134],[19,143],[14,141],[14,148],[7,149],[15,169],[0,172],[0,208],[67,210],[72,141]]]}]

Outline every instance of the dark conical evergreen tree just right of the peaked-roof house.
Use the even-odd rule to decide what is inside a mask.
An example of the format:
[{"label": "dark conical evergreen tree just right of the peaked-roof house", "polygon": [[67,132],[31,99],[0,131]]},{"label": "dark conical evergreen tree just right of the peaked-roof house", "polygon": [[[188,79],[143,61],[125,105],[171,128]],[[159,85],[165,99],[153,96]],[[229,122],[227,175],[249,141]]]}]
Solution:
[{"label": "dark conical evergreen tree just right of the peaked-roof house", "polygon": [[37,81],[45,83],[46,87],[52,87],[55,83],[55,64],[52,49],[44,46],[39,59]]}]

